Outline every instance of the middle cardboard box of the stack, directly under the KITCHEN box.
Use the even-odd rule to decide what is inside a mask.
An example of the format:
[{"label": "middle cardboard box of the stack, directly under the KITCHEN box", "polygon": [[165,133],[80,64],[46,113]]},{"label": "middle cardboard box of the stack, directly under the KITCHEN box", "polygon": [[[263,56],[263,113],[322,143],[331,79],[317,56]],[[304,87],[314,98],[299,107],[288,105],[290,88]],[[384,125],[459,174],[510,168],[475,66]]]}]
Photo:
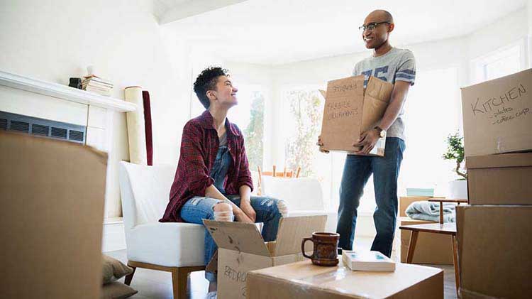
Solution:
[{"label": "middle cardboard box of the stack, directly under the KITCHEN box", "polygon": [[472,156],[465,166],[471,205],[532,205],[532,153]]}]

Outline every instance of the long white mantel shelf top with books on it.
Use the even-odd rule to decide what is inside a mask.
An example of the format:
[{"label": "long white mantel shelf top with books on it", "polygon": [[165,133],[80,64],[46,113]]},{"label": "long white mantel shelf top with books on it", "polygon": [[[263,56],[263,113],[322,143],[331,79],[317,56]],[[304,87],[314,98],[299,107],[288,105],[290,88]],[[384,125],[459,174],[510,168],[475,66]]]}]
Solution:
[{"label": "long white mantel shelf top with books on it", "polygon": [[87,104],[105,109],[111,109],[116,112],[130,112],[135,111],[137,109],[136,104],[126,102],[122,99],[104,97],[102,95],[87,92],[82,89],[76,89],[70,86],[60,85],[57,83],[45,82],[43,80],[37,80],[31,77],[16,75],[1,70],[0,85],[16,89],[23,89],[28,92],[44,94],[50,97],[57,97],[59,99],[66,99],[67,101],[77,102],[80,104]]}]

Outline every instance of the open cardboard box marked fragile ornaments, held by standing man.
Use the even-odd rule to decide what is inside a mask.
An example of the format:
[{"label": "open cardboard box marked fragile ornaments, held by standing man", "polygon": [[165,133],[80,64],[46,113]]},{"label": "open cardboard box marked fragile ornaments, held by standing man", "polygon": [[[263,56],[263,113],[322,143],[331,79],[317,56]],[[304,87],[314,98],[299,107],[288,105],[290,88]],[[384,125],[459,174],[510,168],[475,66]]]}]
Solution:
[{"label": "open cardboard box marked fragile ornaments, held by standing man", "polygon": [[[321,147],[327,151],[353,153],[363,131],[370,130],[382,119],[394,85],[370,77],[364,88],[364,76],[329,81],[327,85]],[[370,156],[384,156],[386,138],[379,138]]]}]

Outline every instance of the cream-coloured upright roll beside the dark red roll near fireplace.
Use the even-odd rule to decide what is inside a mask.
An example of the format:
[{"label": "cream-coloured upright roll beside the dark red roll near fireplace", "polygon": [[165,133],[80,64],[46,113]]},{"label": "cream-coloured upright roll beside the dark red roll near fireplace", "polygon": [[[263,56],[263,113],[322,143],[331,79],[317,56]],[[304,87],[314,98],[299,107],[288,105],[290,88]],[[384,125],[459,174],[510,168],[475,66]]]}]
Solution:
[{"label": "cream-coloured upright roll beside the dark red roll near fireplace", "polygon": [[148,165],[142,87],[126,87],[124,89],[124,99],[137,105],[135,111],[126,112],[128,121],[129,161],[135,164]]}]

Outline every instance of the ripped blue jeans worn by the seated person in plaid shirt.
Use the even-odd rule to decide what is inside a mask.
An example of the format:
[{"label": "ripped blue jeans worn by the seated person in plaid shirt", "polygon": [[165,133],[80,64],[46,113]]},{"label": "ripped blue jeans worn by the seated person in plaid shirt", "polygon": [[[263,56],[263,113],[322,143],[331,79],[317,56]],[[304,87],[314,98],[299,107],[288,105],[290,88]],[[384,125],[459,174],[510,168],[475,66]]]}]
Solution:
[{"label": "ripped blue jeans worn by the seated person in plaid shirt", "polygon": [[[226,195],[235,205],[240,207],[240,196]],[[252,196],[250,203],[253,210],[255,210],[255,222],[263,222],[262,239],[264,241],[274,241],[277,237],[277,229],[279,228],[279,220],[282,215],[279,213],[277,202],[279,200],[272,197]],[[203,219],[214,219],[214,206],[221,202],[211,197],[192,197],[188,200],[181,209],[181,217],[186,222],[203,224]],[[214,252],[218,247],[211,237],[209,232],[205,231],[205,264],[211,261]],[[208,281],[216,282],[214,273],[205,272],[205,278]]]}]

